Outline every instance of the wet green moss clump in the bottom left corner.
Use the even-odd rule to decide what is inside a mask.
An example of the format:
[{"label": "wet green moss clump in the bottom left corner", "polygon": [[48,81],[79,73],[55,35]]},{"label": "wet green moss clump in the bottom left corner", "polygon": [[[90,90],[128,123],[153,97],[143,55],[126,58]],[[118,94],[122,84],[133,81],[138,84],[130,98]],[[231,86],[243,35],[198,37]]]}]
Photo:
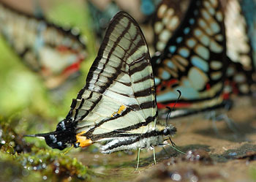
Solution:
[{"label": "wet green moss clump in the bottom left corner", "polygon": [[11,126],[14,126],[12,121],[0,119],[0,167],[4,167],[0,181],[33,181],[36,177],[37,181],[89,180],[87,167],[76,158],[67,156],[67,151],[38,148],[26,143]]}]

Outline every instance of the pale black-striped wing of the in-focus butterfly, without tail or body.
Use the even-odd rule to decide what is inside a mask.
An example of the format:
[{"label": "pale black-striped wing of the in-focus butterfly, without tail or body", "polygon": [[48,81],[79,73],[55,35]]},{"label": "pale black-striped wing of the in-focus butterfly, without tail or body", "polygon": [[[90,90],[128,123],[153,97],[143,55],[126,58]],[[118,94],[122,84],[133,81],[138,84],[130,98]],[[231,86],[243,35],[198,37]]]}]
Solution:
[{"label": "pale black-striped wing of the in-focus butterfly, without tail or body", "polygon": [[71,107],[77,131],[86,131],[86,137],[92,139],[97,134],[110,137],[111,132],[140,130],[156,120],[154,76],[146,40],[127,13],[118,12],[110,21],[86,86]]}]

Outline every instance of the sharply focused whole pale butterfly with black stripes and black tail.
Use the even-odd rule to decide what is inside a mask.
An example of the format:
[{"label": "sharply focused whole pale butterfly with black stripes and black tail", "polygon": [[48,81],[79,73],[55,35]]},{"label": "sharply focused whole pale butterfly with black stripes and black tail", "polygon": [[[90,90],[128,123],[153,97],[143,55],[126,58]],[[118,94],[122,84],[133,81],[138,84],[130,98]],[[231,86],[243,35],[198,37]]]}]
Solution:
[{"label": "sharply focused whole pale butterfly with black stripes and black tail", "polygon": [[175,134],[173,125],[157,125],[154,75],[146,39],[126,12],[110,21],[86,86],[67,117],[44,137],[51,148],[86,147],[103,142],[100,151],[151,148]]}]

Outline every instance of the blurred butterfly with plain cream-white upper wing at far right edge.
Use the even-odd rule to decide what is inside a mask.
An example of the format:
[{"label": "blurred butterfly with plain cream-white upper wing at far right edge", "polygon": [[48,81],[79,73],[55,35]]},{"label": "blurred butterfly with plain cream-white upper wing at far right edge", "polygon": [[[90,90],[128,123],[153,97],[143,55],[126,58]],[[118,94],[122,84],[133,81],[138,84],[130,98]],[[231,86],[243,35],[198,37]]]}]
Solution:
[{"label": "blurred butterfly with plain cream-white upper wing at far right edge", "polygon": [[235,95],[252,95],[256,93],[256,72],[246,19],[237,0],[228,0],[222,6],[225,7],[229,61],[225,91]]}]

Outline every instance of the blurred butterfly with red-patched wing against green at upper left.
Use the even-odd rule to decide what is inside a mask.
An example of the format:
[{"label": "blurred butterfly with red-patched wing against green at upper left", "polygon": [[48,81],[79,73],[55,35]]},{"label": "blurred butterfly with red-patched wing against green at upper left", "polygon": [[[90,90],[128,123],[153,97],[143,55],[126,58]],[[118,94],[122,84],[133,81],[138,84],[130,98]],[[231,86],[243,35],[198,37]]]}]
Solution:
[{"label": "blurred butterfly with red-patched wing against green at upper left", "polygon": [[79,75],[87,53],[76,29],[64,30],[5,4],[0,4],[0,11],[0,34],[24,64],[42,76],[45,86],[58,88]]}]

